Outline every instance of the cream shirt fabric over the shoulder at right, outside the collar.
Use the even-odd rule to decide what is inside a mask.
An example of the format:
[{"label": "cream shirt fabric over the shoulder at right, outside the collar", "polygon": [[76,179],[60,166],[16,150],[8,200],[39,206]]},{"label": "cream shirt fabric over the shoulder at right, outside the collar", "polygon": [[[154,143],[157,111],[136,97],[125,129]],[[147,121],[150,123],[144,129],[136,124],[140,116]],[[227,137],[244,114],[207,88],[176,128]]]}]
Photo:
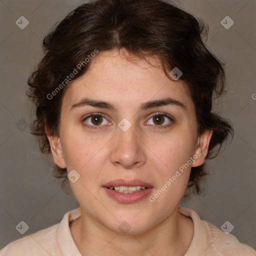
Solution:
[{"label": "cream shirt fabric over the shoulder at right, outside the collar", "polygon": [[209,250],[214,251],[214,255],[256,255],[256,250],[249,245],[239,242],[236,236],[230,233],[224,233],[222,230],[206,220],[201,221],[205,226],[206,237],[209,241]]}]

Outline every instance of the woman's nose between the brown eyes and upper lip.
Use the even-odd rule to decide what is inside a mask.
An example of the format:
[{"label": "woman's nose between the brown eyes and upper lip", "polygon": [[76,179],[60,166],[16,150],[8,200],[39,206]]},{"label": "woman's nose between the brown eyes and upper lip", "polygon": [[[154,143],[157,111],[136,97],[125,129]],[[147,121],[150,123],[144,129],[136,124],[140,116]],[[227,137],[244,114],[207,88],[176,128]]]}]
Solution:
[{"label": "woman's nose between the brown eyes and upper lip", "polygon": [[143,165],[146,159],[143,137],[143,131],[140,131],[135,124],[131,124],[126,131],[117,126],[116,135],[111,141],[110,160],[112,164],[123,168]]}]

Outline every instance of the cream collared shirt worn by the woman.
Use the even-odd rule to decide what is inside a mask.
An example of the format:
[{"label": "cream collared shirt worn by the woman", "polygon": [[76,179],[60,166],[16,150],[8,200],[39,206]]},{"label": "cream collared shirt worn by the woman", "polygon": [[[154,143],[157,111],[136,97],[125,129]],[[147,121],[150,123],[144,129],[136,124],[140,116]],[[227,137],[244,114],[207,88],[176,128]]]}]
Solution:
[{"label": "cream collared shirt worn by the woman", "polygon": [[[240,243],[232,234],[226,234],[188,208],[178,211],[192,219],[194,232],[184,256],[256,256],[256,250]],[[62,220],[10,242],[0,250],[0,256],[82,256],[72,238],[69,222],[80,216],[80,208],[64,214]],[[100,254],[100,253],[99,253]]]}]

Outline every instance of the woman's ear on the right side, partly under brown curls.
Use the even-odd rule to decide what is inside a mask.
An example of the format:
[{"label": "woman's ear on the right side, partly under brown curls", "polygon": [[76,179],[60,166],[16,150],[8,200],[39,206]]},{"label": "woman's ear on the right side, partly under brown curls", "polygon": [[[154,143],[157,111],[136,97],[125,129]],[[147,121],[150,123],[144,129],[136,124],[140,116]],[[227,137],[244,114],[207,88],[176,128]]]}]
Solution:
[{"label": "woman's ear on the right side, partly under brown curls", "polygon": [[200,166],[204,163],[204,159],[208,153],[208,147],[210,143],[210,138],[212,136],[212,130],[205,130],[198,138],[197,145],[195,148],[195,154],[197,158],[194,157],[194,161],[191,164],[192,167]]}]

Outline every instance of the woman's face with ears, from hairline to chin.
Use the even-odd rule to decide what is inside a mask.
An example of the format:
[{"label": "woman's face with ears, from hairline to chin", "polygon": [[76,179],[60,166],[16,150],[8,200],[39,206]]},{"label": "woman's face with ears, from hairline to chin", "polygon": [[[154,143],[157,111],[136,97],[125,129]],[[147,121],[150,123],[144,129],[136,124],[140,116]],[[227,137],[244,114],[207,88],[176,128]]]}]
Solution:
[{"label": "woman's face with ears, from hairline to chin", "polygon": [[[186,85],[133,58],[99,52],[65,91],[59,137],[48,136],[55,163],[80,175],[70,186],[82,214],[117,233],[123,221],[130,233],[141,233],[177,210],[190,168],[203,163],[210,139],[207,132],[197,137]],[[142,182],[147,188],[132,193],[107,188]]]}]

